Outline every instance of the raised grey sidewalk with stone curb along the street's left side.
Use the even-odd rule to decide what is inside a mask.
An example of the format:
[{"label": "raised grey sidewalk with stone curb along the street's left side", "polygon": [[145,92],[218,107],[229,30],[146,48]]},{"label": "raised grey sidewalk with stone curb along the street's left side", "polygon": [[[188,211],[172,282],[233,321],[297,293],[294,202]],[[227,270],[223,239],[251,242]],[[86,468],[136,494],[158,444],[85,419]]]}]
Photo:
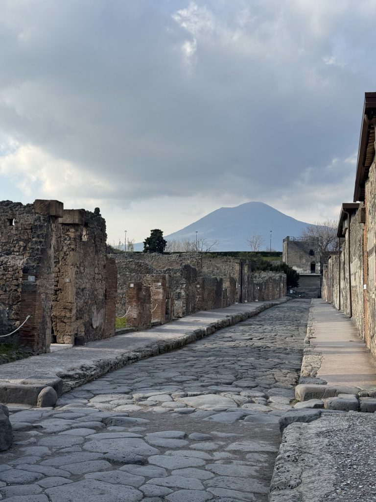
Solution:
[{"label": "raised grey sidewalk with stone curb along the street's left side", "polygon": [[0,402],[36,405],[38,394],[45,387],[53,387],[61,396],[109,371],[177,349],[287,300],[280,298],[200,311],[153,329],[2,364]]}]

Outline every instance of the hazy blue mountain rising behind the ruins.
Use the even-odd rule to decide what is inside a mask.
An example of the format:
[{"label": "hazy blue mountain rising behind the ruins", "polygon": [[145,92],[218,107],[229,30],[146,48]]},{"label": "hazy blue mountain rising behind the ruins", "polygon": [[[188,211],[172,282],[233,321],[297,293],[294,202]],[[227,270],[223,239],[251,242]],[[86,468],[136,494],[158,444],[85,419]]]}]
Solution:
[{"label": "hazy blue mountain rising behind the ruins", "polygon": [[[272,249],[282,251],[286,235],[299,236],[309,223],[296,220],[277,211],[263,202],[246,202],[236,207],[221,207],[181,230],[165,235],[166,240],[206,238],[209,242],[218,240],[217,251],[249,251],[245,239],[252,234],[264,238],[262,250],[270,247],[272,230]],[[135,244],[135,250],[143,249],[142,243]]]}]

